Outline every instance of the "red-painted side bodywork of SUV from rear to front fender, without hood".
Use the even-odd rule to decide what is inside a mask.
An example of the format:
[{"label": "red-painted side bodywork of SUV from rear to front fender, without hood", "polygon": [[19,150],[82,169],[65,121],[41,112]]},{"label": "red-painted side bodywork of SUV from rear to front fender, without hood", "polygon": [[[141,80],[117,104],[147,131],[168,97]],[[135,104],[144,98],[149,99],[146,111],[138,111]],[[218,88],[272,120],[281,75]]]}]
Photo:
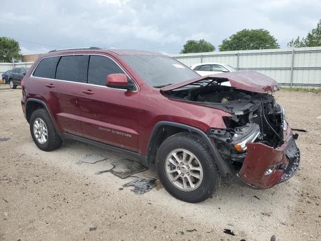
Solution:
[{"label": "red-painted side bodywork of SUV from rear to front fender, without hood", "polygon": [[[213,127],[226,128],[222,117],[231,116],[229,113],[165,97],[159,89],[144,84],[144,81],[122,61],[121,56],[111,51],[77,50],[77,52],[48,53],[40,56],[31,69],[33,70],[45,56],[81,53],[111,57],[135,82],[137,91],[127,92],[98,85],[34,78],[30,76],[32,73],[30,71],[24,78],[26,93],[24,102],[28,98],[44,101],[57,131],[147,155],[148,138],[157,122],[181,123],[204,132]],[[125,53],[130,54],[130,52]],[[148,52],[143,53],[148,54]],[[49,88],[46,85],[55,87]],[[112,132],[124,133],[131,138]]]}]

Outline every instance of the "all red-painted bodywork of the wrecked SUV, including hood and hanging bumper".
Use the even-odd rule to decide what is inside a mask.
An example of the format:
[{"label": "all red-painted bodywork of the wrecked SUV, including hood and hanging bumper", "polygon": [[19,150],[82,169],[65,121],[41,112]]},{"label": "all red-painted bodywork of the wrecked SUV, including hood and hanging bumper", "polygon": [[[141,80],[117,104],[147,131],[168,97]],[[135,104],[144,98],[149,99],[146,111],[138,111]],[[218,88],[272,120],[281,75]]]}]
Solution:
[{"label": "all red-painted bodywork of the wrecked SUV, including hood and hanging bumper", "polygon": [[[134,81],[137,91],[129,92],[54,79],[35,78],[33,69],[42,57],[68,54],[99,54],[112,58]],[[40,56],[24,77],[22,107],[26,113],[29,98],[46,103],[58,132],[74,134],[105,144],[121,147],[146,156],[146,147],[156,123],[168,121],[185,124],[206,132],[210,128],[225,129],[224,116],[231,116],[220,109],[174,100],[164,96],[160,89],[153,88],[121,59],[118,54],[133,54],[131,51],[107,50],[60,51]],[[135,52],[137,54],[137,52]],[[141,54],[154,54],[141,52]],[[175,89],[203,79],[229,80],[231,85],[254,92],[274,92],[277,83],[271,78],[253,72],[224,73],[173,84],[161,90]],[[108,76],[107,82],[123,83],[125,76]],[[127,78],[126,78],[127,83]],[[119,135],[120,134],[120,135]],[[291,135],[288,128],[285,137]],[[247,155],[239,172],[241,178],[256,187],[267,188],[278,183],[283,175],[274,170],[264,176],[265,170],[274,164],[287,163],[284,149],[287,143],[273,149],[263,144],[247,144]]]}]

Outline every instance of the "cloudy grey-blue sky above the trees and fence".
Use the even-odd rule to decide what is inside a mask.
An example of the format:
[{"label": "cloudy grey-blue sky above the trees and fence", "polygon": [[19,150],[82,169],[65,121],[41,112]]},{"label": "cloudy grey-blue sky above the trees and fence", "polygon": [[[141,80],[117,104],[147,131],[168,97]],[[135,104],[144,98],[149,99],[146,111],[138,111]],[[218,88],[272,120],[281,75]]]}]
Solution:
[{"label": "cloudy grey-blue sky above the trees and fence", "polygon": [[321,19],[320,0],[1,0],[0,36],[23,54],[102,47],[179,53],[187,40],[216,47],[242,29],[266,29],[285,48]]}]

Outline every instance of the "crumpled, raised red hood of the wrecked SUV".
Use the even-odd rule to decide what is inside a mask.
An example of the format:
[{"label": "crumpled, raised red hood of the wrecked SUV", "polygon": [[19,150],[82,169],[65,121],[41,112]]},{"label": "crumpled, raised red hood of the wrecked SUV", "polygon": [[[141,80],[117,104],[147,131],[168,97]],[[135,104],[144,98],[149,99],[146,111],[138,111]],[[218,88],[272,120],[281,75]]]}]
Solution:
[{"label": "crumpled, raised red hood of the wrecked SUV", "polygon": [[279,90],[277,82],[264,74],[256,71],[239,71],[200,76],[199,78],[165,86],[161,88],[161,91],[178,89],[201,80],[215,80],[218,83],[230,81],[232,87],[257,93],[273,93]]}]

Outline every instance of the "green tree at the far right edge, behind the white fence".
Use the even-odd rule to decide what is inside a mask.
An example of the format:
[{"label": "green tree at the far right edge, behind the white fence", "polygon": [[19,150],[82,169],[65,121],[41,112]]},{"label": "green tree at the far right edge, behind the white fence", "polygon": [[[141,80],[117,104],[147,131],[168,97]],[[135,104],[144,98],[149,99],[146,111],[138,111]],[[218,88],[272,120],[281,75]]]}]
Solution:
[{"label": "green tree at the far right edge, behind the white fence", "polygon": [[316,28],[312,29],[311,33],[308,32],[305,38],[300,40],[300,37],[297,37],[287,43],[287,47],[290,48],[317,46],[321,46],[321,20],[317,23]]}]

